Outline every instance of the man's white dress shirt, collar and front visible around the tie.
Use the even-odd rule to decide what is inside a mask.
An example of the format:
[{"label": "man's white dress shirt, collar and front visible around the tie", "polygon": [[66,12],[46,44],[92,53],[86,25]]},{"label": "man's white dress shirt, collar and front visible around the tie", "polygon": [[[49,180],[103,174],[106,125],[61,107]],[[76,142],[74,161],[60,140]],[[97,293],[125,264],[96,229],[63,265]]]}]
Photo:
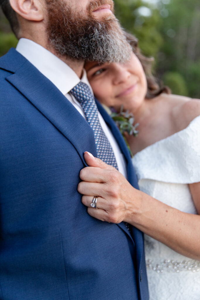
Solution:
[{"label": "man's white dress shirt, collar and front visible around the tie", "polygon": [[[83,76],[80,80],[77,74],[67,64],[65,64],[64,61],[39,44],[36,44],[35,42],[25,38],[21,38],[19,40],[16,50],[28,61],[30,61],[31,64],[33,64],[44,76],[46,76],[59,89],[59,91],[65,95],[67,98],[66,101],[70,101],[79,111],[79,113],[85,118],[85,114],[80,103],[73,97],[73,95],[70,94],[70,90],[80,81],[86,83],[91,89],[85,70],[83,70]],[[92,89],[91,92],[93,94]],[[124,155],[121,153],[121,150],[112,132],[106,125],[99,112],[98,117],[101,127],[114,151],[118,170],[124,175],[124,177],[127,178]],[[87,149],[85,149],[85,151],[87,151]]]}]

